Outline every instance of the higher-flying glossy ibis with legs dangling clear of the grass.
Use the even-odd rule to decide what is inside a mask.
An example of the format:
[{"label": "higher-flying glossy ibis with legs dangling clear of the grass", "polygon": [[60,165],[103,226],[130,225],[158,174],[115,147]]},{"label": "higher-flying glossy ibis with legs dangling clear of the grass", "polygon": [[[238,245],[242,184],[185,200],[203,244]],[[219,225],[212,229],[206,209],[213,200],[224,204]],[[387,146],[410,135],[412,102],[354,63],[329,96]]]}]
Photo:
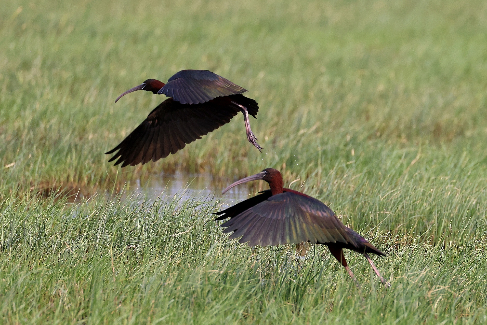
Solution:
[{"label": "higher-flying glossy ibis with legs dangling clear of the grass", "polygon": [[207,70],[182,70],[169,78],[168,83],[148,79],[122,96],[137,90],[164,94],[170,98],[150,112],[147,119],[135,128],[122,142],[107,152],[118,152],[109,162],[118,158],[122,163],[135,166],[165,158],[169,153],[183,149],[187,143],[206,135],[230,122],[239,111],[244,113],[247,139],[260,151],[262,147],[250,129],[248,115],[254,118],[259,105],[242,93],[247,90]]}]

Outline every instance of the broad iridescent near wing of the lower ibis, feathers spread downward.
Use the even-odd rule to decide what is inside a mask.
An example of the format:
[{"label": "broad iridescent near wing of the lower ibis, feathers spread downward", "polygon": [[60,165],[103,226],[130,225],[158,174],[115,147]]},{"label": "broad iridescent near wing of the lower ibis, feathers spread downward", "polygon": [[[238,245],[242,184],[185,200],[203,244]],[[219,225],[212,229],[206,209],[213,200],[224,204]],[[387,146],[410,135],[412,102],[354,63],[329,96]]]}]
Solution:
[{"label": "broad iridescent near wing of the lower ibis, feathers spread downward", "polygon": [[231,239],[255,245],[311,242],[356,246],[335,213],[322,202],[296,193],[273,195],[221,225]]}]

